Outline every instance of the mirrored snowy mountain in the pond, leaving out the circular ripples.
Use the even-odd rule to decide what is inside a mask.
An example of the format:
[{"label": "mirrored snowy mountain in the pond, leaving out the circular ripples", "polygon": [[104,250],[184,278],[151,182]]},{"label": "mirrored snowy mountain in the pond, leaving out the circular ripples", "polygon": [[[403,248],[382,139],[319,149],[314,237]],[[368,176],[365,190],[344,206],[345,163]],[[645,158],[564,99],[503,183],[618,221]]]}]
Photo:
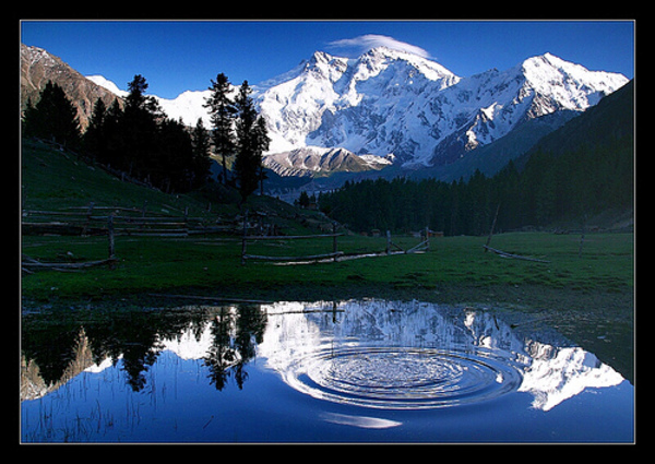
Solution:
[{"label": "mirrored snowy mountain in the pond, leaving out the circular ripples", "polygon": [[[332,304],[298,302],[267,307],[270,324],[259,346],[260,356],[267,358],[267,366],[284,373],[297,359],[326,344],[491,348],[504,352],[524,366],[519,391],[533,394],[533,407],[544,411],[585,388],[612,386],[623,380],[611,367],[580,347],[557,347],[519,337],[490,311],[376,300],[341,304],[342,312],[331,311],[332,308]],[[318,309],[324,312],[302,312]]]}]

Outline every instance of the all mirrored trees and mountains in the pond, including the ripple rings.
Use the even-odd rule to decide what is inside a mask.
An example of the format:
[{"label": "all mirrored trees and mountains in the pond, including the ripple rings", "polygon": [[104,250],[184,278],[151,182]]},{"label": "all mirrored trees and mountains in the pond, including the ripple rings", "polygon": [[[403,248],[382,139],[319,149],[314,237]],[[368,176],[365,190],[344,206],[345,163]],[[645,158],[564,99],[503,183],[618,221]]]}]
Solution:
[{"label": "all mirrored trees and mountains in the pond, including the ripple rings", "polygon": [[[496,312],[418,301],[279,302],[24,317],[21,398],[117,367],[134,392],[160,353],[202,360],[216,390],[239,390],[255,357],[294,389],[368,407],[443,407],[528,392],[550,411],[623,378],[562,337],[514,331]],[[549,335],[552,338],[552,334]]]}]

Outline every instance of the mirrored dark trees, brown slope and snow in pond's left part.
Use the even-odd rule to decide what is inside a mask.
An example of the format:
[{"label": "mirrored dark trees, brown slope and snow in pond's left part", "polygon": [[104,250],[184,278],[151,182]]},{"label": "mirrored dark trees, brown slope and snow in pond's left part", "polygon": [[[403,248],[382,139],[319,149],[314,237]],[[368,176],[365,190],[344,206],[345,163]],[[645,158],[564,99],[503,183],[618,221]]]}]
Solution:
[{"label": "mirrored dark trees, brown slope and snow in pond's left part", "polygon": [[80,372],[99,372],[119,360],[127,384],[140,392],[164,350],[202,359],[216,390],[230,378],[241,389],[248,378],[245,366],[265,326],[265,311],[248,305],[28,314],[22,326],[21,400],[41,397]]}]

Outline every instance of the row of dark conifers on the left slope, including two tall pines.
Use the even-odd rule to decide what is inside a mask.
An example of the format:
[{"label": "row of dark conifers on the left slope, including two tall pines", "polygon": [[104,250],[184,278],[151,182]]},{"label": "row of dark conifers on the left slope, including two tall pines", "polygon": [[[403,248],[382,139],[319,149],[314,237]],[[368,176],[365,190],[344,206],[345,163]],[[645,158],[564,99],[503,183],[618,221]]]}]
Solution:
[{"label": "row of dark conifers on the left slope, including two tall pines", "polygon": [[[254,108],[248,81],[234,98],[225,74],[211,83],[205,105],[212,121],[209,130],[200,118],[194,128],[168,118],[157,100],[145,95],[145,78],[136,74],[128,84],[124,100],[116,98],[108,108],[100,98],[95,102],[88,127],[81,133],[75,106],[61,86],[50,81],[36,105],[27,102],[23,135],[80,150],[166,192],[202,187],[210,176],[213,145],[223,159],[222,181],[237,187],[245,201],[265,178],[261,163],[269,146],[265,121]],[[229,178],[226,158],[231,156],[236,159]]]}]

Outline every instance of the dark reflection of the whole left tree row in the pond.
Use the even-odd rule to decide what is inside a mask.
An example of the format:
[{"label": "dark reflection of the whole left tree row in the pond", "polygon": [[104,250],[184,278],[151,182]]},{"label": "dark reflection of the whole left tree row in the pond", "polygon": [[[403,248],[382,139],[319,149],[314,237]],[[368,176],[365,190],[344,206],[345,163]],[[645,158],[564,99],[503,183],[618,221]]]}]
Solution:
[{"label": "dark reflection of the whole left tree row in the pond", "polygon": [[207,323],[214,337],[205,357],[211,382],[223,390],[234,376],[241,389],[248,378],[243,367],[255,356],[266,325],[259,306],[29,314],[23,318],[21,348],[26,362],[38,366],[43,381],[53,384],[75,361],[83,331],[93,361],[99,365],[110,358],[116,366],[122,358],[127,383],[139,392],[146,386],[146,372],[164,348],[162,341],[179,338],[188,330],[200,340]]}]

